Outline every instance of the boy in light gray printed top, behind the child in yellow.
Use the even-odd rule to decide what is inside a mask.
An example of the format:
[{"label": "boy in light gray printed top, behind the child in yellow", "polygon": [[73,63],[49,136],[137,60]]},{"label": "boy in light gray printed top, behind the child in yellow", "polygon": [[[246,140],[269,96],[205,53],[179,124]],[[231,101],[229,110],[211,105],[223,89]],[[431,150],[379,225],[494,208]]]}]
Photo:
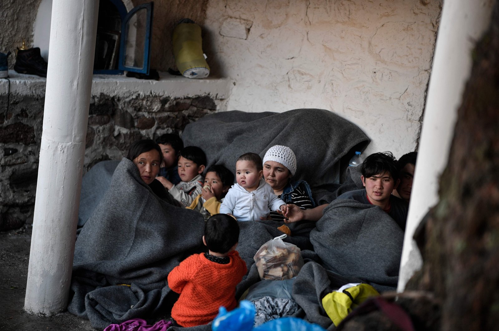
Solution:
[{"label": "boy in light gray printed top, behind the child in yellow", "polygon": [[178,173],[181,181],[174,185],[166,178],[158,180],[168,189],[175,200],[187,207],[203,190],[203,176],[201,174],[205,170],[205,165],[205,152],[199,147],[188,146],[179,155]]}]

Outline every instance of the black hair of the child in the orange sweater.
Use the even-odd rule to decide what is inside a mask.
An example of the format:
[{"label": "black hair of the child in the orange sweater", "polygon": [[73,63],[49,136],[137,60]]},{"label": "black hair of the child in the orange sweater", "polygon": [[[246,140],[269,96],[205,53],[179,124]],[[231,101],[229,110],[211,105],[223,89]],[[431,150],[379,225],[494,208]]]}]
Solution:
[{"label": "black hair of the child in the orange sweater", "polygon": [[239,224],[227,214],[215,214],[205,223],[206,246],[212,252],[225,254],[239,241]]}]

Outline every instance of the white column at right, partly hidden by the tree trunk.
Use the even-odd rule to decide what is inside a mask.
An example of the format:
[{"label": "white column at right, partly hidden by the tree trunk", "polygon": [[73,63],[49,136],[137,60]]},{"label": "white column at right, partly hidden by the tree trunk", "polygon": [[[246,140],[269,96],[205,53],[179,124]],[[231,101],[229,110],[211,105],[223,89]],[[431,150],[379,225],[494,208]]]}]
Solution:
[{"label": "white column at right, partly hidden by the tree trunk", "polygon": [[457,110],[471,73],[472,49],[489,26],[495,0],[444,0],[433,58],[428,97],[412,186],[400,263],[398,292],[421,269],[421,254],[412,239],[422,218],[439,200],[457,120]]}]

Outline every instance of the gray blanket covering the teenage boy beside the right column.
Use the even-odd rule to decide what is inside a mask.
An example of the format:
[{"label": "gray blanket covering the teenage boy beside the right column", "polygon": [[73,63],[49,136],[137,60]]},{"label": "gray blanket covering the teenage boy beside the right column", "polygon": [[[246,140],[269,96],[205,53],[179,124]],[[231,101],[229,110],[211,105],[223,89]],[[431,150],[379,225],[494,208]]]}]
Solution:
[{"label": "gray blanket covering the teenage boy beside the right column", "polygon": [[349,199],[331,202],[310,232],[327,270],[359,278],[378,292],[397,286],[403,240],[402,229],[381,208]]}]

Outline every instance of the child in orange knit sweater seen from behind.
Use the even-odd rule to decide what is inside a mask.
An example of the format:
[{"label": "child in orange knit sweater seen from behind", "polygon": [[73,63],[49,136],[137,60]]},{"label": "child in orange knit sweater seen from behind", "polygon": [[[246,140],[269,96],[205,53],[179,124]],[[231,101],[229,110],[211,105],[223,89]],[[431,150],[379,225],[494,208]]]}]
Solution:
[{"label": "child in orange knit sweater seen from behind", "polygon": [[239,225],[234,218],[216,214],[207,220],[203,242],[208,253],[191,255],[168,274],[168,286],[180,294],[172,308],[177,324],[208,324],[220,307],[236,308],[236,285],[248,271],[235,250],[238,241]]}]

